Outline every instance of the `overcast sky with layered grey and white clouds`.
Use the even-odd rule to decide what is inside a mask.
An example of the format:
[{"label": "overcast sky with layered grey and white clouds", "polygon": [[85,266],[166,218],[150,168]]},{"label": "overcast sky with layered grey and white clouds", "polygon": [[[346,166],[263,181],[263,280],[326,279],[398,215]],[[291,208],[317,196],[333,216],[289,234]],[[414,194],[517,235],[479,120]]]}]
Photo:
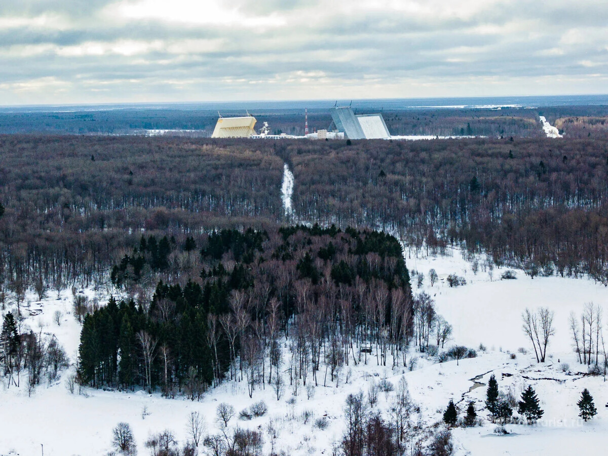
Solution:
[{"label": "overcast sky with layered grey and white clouds", "polygon": [[0,104],[605,94],[606,0],[0,0]]}]

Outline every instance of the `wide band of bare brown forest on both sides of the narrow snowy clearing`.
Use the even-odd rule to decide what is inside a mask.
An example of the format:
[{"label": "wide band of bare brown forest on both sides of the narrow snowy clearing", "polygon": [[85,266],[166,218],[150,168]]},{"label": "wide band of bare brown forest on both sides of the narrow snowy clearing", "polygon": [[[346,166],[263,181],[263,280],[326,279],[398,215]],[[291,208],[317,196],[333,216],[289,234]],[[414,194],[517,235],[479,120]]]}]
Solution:
[{"label": "wide band of bare brown forest on both sides of the narrow snowy clearing", "polygon": [[[0,297],[105,282],[142,233],[200,246],[213,229],[294,221],[383,229],[412,247],[460,245],[531,275],[608,283],[605,140],[10,135],[0,154]],[[188,255],[171,249],[167,262],[154,280],[185,285]]]}]

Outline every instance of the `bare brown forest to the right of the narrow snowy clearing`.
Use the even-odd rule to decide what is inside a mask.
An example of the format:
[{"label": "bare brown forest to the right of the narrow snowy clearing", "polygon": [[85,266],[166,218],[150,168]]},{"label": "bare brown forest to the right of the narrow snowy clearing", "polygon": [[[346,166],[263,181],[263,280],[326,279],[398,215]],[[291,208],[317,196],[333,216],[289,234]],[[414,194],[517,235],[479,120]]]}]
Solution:
[{"label": "bare brown forest to the right of the narrow snowy clearing", "polygon": [[282,156],[303,219],[390,230],[410,246],[462,243],[533,275],[608,281],[603,141],[311,143]]}]

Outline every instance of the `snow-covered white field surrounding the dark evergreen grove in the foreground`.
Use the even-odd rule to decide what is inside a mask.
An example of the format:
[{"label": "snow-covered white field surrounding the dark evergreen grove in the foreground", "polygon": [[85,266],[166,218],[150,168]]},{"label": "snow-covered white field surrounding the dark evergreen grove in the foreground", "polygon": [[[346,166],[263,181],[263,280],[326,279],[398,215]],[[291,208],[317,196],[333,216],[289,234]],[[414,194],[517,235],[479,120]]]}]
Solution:
[{"label": "snow-covered white field surrounding the dark evergreen grove in the foreground", "polygon": [[[426,291],[436,302],[437,311],[454,326],[454,343],[477,349],[480,343],[487,351],[478,350],[479,356],[436,364],[425,359],[422,354],[412,351],[410,357],[418,356],[415,370],[403,367],[378,366],[375,357],[368,359],[367,365],[350,365],[342,368],[339,386],[323,386],[323,372],[319,375],[320,385],[315,388],[313,398],[308,399],[306,389],[300,385],[294,403],[289,403],[293,389],[286,385],[284,396],[277,401],[269,385],[265,390],[256,390],[253,398],[247,394],[246,382],[226,382],[209,390],[200,402],[184,398],[165,399],[160,394],[148,395],[144,392],[120,393],[85,389],[84,395],[76,390],[71,394],[66,387],[68,376],[74,371],[72,366],[61,379],[50,385],[36,388],[28,397],[25,376],[21,388],[7,389],[2,383],[0,393],[0,455],[19,454],[22,456],[41,454],[44,445],[46,456],[98,455],[110,450],[111,430],[119,421],[126,421],[133,429],[139,454],[147,454],[143,442],[151,433],[164,429],[173,430],[176,438],[184,442],[187,438],[186,421],[191,411],[199,411],[206,418],[207,430],[219,432],[215,423],[215,410],[220,402],[232,404],[238,412],[244,407],[263,399],[268,404],[268,415],[251,421],[233,418],[230,426],[239,425],[251,429],[267,429],[268,424],[277,429],[275,451],[285,451],[287,455],[331,454],[331,446],[338,441],[344,429],[342,407],[348,393],[363,390],[367,392],[372,379],[386,378],[395,386],[404,376],[409,384],[413,400],[420,406],[420,419],[426,424],[441,420],[441,415],[449,399],[453,398],[462,415],[469,400],[476,401],[477,409],[483,407],[485,386],[469,389],[472,379],[483,375],[478,381],[486,384],[494,373],[501,390],[513,390],[516,396],[527,384],[533,385],[541,399],[545,415],[534,426],[508,424],[511,434],[497,436],[492,433],[495,424],[486,423],[480,427],[457,428],[454,430],[456,454],[465,455],[570,455],[598,454],[604,447],[608,435],[607,410],[608,389],[601,377],[584,376],[570,348],[570,334],[567,317],[570,311],[581,313],[587,302],[606,306],[608,292],[604,286],[593,281],[560,277],[536,277],[531,279],[517,272],[516,280],[500,280],[503,269],[489,271],[480,266],[477,274],[472,272],[471,263],[463,260],[459,250],[450,250],[446,257],[406,258],[410,270],[423,272],[423,285],[417,288],[412,276],[414,292]],[[482,263],[482,262],[481,262]],[[430,286],[428,272],[434,268],[440,280]],[[448,274],[465,277],[467,285],[449,288]],[[86,290],[88,294],[92,291]],[[98,295],[103,300],[105,295]],[[28,299],[35,302],[34,296]],[[551,339],[548,353],[550,357],[544,365],[536,364],[530,354],[517,351],[519,347],[530,348],[521,329],[520,314],[526,307],[547,306],[555,312],[556,334]],[[33,305],[32,305],[33,306]],[[29,316],[24,324],[32,330],[54,333],[67,354],[75,359],[80,335],[80,325],[71,315],[71,292],[63,292],[61,299],[52,292],[37,306],[43,313]],[[54,322],[54,313],[63,314],[61,325]],[[27,314],[27,312],[25,312]],[[283,341],[285,350],[287,345]],[[510,353],[516,358],[511,359]],[[568,362],[571,375],[561,371],[559,364]],[[347,381],[347,376],[350,376]],[[588,423],[578,419],[578,400],[583,388],[588,388],[595,398],[598,415]],[[392,393],[394,394],[394,393]],[[386,410],[391,395],[379,395],[379,410]],[[149,415],[142,417],[147,407]],[[305,410],[313,418],[304,422]],[[485,410],[479,412],[485,417]],[[329,426],[320,430],[314,427],[316,418],[326,416]],[[269,454],[271,441],[266,435],[264,454]]]}]

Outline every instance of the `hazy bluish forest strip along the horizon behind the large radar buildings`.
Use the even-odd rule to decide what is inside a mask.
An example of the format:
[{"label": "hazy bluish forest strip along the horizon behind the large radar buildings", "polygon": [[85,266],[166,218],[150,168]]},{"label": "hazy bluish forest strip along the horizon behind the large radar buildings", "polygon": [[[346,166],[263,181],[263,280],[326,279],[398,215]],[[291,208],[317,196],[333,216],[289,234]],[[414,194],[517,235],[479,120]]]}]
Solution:
[{"label": "hazy bluish forest strip along the horizon behind the large radar buildings", "polygon": [[[309,130],[331,125],[327,109],[309,109]],[[357,114],[378,110],[358,109]],[[245,111],[223,111],[223,116],[243,116]],[[250,111],[259,130],[268,122],[274,134],[304,134],[303,109]],[[568,137],[608,139],[606,106],[561,106],[559,108],[502,109],[415,109],[382,111],[390,133],[395,135],[486,136],[540,138],[544,133],[539,115]],[[22,112],[0,111],[0,134],[143,134],[146,130],[180,130],[171,136],[210,137],[217,111],[201,109],[107,109],[99,111]]]}]

